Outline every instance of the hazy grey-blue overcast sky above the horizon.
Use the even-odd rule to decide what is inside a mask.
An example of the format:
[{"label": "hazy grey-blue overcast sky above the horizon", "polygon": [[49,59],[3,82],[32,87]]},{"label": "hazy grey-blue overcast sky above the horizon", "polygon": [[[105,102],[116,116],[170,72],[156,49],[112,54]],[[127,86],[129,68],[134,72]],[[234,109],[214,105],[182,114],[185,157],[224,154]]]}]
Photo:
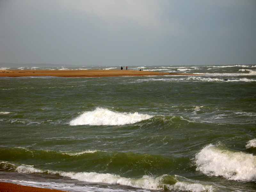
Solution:
[{"label": "hazy grey-blue overcast sky above the horizon", "polygon": [[256,63],[255,0],[0,0],[0,63]]}]

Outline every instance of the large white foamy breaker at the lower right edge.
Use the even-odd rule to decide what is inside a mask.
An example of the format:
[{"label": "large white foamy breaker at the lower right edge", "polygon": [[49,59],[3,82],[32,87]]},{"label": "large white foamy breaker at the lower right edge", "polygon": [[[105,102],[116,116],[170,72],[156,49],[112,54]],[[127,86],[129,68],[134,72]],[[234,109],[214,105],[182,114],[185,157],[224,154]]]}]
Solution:
[{"label": "large white foamy breaker at the lower right edge", "polygon": [[255,181],[256,157],[234,151],[219,143],[208,145],[196,155],[197,170],[229,180]]}]

